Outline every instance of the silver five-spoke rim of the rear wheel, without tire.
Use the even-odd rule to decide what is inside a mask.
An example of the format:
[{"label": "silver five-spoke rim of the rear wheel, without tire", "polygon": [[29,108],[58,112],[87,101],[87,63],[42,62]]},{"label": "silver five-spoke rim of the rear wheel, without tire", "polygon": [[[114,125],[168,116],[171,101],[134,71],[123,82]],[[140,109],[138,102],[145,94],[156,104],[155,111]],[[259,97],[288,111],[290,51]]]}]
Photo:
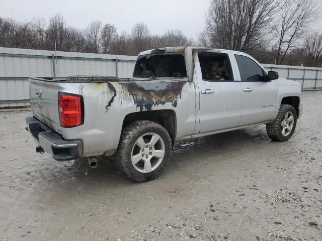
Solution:
[{"label": "silver five-spoke rim of the rear wheel, without tire", "polygon": [[165,142],[156,133],[146,133],[140,136],[131,151],[131,162],[140,173],[153,172],[165,156]]}]

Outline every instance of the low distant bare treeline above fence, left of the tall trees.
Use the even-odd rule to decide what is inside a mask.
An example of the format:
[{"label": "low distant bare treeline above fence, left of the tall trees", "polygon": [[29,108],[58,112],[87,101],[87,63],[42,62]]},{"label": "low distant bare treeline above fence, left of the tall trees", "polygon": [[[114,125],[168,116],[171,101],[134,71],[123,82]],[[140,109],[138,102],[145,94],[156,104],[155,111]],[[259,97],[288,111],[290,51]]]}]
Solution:
[{"label": "low distant bare treeline above fence, left of the tall trees", "polygon": [[167,46],[191,46],[193,39],[180,30],[164,35],[151,35],[146,24],[136,23],[131,33],[118,33],[113,24],[93,21],[86,29],[76,29],[66,24],[57,13],[45,19],[17,22],[0,18],[0,47],[25,48],[67,52],[137,55],[139,52]]}]

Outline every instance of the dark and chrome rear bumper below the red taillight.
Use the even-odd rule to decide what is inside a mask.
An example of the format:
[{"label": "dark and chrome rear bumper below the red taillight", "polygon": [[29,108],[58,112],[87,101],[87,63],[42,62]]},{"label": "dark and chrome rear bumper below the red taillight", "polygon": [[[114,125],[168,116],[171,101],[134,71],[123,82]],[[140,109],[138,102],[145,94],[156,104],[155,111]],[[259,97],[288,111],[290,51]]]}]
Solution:
[{"label": "dark and chrome rear bumper below the red taillight", "polygon": [[27,130],[36,143],[57,161],[74,160],[82,155],[80,140],[64,140],[35,117],[26,118]]}]

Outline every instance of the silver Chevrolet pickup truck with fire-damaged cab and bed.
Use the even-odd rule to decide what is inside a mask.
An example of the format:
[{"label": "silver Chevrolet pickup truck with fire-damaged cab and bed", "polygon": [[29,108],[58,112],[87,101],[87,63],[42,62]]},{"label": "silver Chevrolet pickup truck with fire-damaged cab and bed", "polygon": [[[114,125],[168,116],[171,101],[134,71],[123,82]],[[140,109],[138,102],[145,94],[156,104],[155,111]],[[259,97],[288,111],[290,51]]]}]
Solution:
[{"label": "silver Chevrolet pickup truck with fire-damaged cab and bed", "polygon": [[138,55],[132,78],[30,78],[27,130],[55,160],[113,156],[133,181],[157,177],[177,141],[266,124],[286,141],[302,112],[301,88],[251,56],[194,47]]}]

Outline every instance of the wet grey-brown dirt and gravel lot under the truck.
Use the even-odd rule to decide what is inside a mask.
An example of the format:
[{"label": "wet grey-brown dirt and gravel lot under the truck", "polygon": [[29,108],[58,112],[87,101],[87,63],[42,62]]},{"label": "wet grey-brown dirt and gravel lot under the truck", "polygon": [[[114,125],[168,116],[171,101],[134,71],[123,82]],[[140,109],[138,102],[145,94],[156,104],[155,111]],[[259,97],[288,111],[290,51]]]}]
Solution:
[{"label": "wet grey-brown dirt and gravel lot under the truck", "polygon": [[265,126],[182,142],[157,180],[56,162],[0,111],[0,240],[322,240],[322,91],[290,141]]}]

